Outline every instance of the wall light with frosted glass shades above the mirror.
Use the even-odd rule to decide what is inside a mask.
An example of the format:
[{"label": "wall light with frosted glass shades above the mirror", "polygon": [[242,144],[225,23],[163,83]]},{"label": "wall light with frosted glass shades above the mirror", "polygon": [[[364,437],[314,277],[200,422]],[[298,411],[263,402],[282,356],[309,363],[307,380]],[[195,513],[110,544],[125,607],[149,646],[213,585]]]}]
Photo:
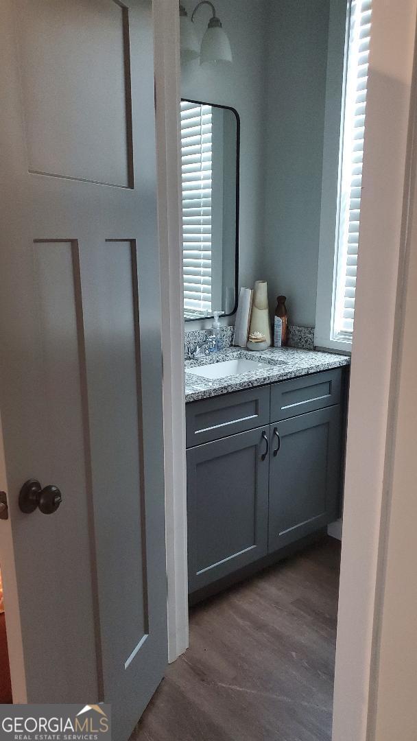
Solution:
[{"label": "wall light with frosted glass shades above the mirror", "polygon": [[[201,5],[210,5],[210,8],[213,10],[213,16],[210,18],[207,31],[204,33],[203,40],[201,41],[201,47],[199,47],[199,41],[192,24],[194,16],[196,16],[196,12]],[[216,8],[210,0],[201,0],[196,5],[191,20],[188,18],[184,5],[181,5],[180,2],[179,28],[181,35],[181,59],[184,62],[188,62],[190,59],[197,59],[197,57],[200,57],[200,64],[207,64],[208,62],[232,62],[230,41],[221,26],[220,20],[216,16]]]}]

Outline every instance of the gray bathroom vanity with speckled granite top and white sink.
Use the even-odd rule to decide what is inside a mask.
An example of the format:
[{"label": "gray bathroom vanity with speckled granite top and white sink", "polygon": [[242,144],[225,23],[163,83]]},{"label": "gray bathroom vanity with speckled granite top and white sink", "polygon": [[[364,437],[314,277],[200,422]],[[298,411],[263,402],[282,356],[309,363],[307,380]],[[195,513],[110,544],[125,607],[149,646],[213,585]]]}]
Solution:
[{"label": "gray bathroom vanity with speckled granite top and white sink", "polygon": [[[213,365],[186,364],[191,599],[278,560],[340,516],[349,359],[256,354],[230,348]],[[225,362],[228,373],[244,360],[253,371],[236,365],[216,378]]]}]

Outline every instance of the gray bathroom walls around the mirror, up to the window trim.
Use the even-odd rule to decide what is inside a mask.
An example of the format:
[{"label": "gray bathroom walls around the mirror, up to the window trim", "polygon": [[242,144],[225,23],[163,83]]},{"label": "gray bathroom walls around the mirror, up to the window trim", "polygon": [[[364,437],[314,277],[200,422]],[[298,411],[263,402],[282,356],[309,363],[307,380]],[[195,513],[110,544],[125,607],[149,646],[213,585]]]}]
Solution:
[{"label": "gray bathroom walls around the mirror, up to the window trim", "polygon": [[[284,293],[290,322],[313,327],[330,0],[220,0],[216,10],[233,65],[184,65],[181,94],[241,116],[239,285],[267,279],[271,313]],[[199,13],[201,38],[210,11]]]}]

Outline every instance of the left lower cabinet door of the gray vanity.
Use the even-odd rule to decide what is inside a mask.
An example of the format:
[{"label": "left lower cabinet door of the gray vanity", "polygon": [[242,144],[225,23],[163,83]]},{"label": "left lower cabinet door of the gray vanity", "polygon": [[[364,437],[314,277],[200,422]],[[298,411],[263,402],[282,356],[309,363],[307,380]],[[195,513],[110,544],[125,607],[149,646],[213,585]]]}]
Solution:
[{"label": "left lower cabinet door of the gray vanity", "polygon": [[270,428],[187,451],[189,591],[267,554]]}]

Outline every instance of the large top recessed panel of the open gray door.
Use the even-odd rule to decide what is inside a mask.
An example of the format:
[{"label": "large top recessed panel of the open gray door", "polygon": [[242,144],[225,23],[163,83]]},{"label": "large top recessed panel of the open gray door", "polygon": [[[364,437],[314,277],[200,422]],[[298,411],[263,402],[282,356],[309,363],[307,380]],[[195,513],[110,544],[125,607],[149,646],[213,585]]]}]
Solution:
[{"label": "large top recessed panel of the open gray door", "polygon": [[15,3],[28,171],[133,188],[129,10],[54,5]]}]

